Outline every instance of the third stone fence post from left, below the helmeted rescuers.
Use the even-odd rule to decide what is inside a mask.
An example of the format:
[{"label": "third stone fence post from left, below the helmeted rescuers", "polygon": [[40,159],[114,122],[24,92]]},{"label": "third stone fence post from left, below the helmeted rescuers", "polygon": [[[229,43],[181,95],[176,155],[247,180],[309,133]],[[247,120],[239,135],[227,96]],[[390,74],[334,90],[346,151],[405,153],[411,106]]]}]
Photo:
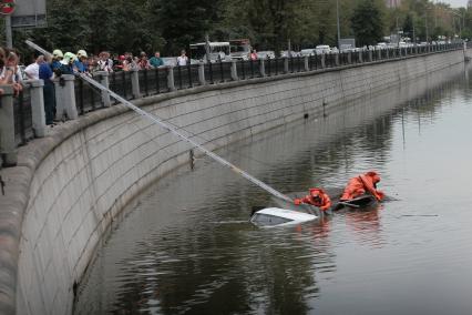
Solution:
[{"label": "third stone fence post from left, below the helmeted rescuers", "polygon": [[64,114],[68,119],[79,118],[75,106],[75,77],[73,74],[62,74],[59,80],[54,80],[55,85],[55,119],[62,120]]}]

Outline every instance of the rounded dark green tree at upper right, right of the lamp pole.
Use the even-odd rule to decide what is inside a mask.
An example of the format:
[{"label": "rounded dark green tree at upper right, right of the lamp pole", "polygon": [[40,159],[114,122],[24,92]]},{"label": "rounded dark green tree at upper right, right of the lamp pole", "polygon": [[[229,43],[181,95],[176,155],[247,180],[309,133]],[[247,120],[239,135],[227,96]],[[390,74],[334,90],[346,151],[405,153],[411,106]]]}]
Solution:
[{"label": "rounded dark green tree at upper right, right of the lamp pole", "polygon": [[353,10],[351,23],[358,45],[374,44],[380,41],[384,28],[380,2],[362,0]]}]

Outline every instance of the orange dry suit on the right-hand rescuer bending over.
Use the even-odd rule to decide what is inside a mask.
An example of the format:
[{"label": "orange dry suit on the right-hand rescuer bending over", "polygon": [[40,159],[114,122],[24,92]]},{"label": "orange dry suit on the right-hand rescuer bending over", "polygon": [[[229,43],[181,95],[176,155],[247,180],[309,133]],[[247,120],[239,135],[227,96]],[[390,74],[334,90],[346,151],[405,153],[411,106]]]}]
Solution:
[{"label": "orange dry suit on the right-hand rescuer bending over", "polygon": [[378,201],[381,201],[384,194],[377,190],[377,183],[380,182],[380,176],[373,171],[361,174],[349,180],[340,200],[352,200],[366,193],[372,194]]}]

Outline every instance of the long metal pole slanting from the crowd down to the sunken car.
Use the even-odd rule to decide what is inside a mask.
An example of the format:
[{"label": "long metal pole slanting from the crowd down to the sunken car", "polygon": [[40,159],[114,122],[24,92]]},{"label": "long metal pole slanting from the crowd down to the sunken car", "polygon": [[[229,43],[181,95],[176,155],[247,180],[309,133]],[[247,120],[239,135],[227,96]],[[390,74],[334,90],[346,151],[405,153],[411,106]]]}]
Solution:
[{"label": "long metal pole slanting from the crowd down to the sunken car", "polygon": [[[42,49],[41,47],[37,45],[35,43],[33,43],[32,41],[27,40],[25,43],[28,45],[30,45],[31,48],[38,50],[39,52],[43,53],[44,55],[52,55],[49,51]],[[217,155],[216,153],[213,153],[212,151],[207,150],[206,148],[204,148],[202,144],[197,143],[196,141],[188,139],[187,136],[185,136],[184,134],[182,134],[176,128],[174,128],[173,125],[164,122],[162,119],[140,109],[138,106],[132,104],[131,102],[129,102],[127,100],[123,99],[122,96],[120,96],[119,94],[116,94],[115,92],[111,91],[110,89],[106,89],[105,87],[103,87],[102,84],[100,84],[99,82],[96,82],[95,80],[93,80],[92,78],[88,77],[84,73],[79,73],[80,78],[86,82],[89,82],[90,84],[92,84],[93,87],[95,87],[96,89],[99,89],[100,91],[105,91],[110,93],[110,96],[112,96],[113,99],[115,99],[116,101],[121,102],[123,105],[125,105],[126,108],[135,111],[136,113],[138,113],[142,116],[147,118],[148,120],[151,120],[152,122],[161,125],[163,129],[172,132],[173,134],[179,136],[181,139],[183,139],[184,141],[191,143],[194,148],[198,149],[199,151],[202,151],[203,153],[205,153],[206,155],[208,155],[209,158],[212,158],[213,160],[215,160],[216,162],[229,167],[232,171],[238,173],[239,175],[242,175],[243,177],[249,180],[252,183],[258,185],[259,187],[261,187],[263,190],[265,190],[266,192],[273,194],[276,197],[279,197],[281,200],[285,200],[287,202],[293,202],[291,199],[289,199],[288,196],[286,196],[285,194],[276,191],[275,189],[270,187],[269,185],[267,185],[266,183],[259,181],[258,179],[252,176],[250,174],[246,173],[245,171],[243,171],[242,169],[237,167],[236,165],[232,164],[230,162],[226,161],[225,159],[223,159],[222,156]]]}]

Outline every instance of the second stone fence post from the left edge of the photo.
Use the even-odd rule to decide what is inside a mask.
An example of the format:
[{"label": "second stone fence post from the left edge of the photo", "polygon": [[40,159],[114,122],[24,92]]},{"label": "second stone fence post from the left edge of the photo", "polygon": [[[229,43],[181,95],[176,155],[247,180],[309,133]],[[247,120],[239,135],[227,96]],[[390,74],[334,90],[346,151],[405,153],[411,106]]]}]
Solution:
[{"label": "second stone fence post from the left edge of the photo", "polygon": [[44,96],[43,96],[43,80],[29,81],[30,95],[31,95],[31,120],[33,122],[33,130],[35,138],[43,138],[45,135],[45,112],[44,112]]}]

